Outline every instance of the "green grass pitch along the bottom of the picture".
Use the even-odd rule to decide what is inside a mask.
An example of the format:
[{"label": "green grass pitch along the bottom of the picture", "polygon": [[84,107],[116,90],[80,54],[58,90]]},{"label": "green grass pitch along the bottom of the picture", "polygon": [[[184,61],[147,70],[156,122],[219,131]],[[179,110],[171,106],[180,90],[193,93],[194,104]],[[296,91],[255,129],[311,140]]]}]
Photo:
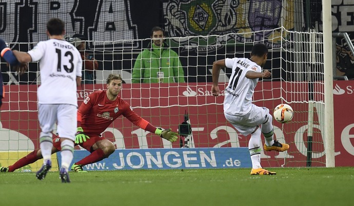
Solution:
[{"label": "green grass pitch along the bottom of the picture", "polygon": [[354,205],[354,167],[1,173],[2,205]]}]

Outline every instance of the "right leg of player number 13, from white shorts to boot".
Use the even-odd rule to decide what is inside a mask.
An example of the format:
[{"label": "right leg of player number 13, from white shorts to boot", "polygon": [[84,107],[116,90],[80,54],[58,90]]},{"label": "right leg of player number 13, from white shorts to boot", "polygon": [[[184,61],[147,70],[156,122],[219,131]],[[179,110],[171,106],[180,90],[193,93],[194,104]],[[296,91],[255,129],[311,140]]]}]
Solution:
[{"label": "right leg of player number 13, from white shorts to boot", "polygon": [[77,122],[77,107],[69,104],[58,106],[57,133],[61,137],[61,157],[62,164],[60,168],[60,178],[62,182],[70,182],[69,167],[74,157],[74,140]]}]

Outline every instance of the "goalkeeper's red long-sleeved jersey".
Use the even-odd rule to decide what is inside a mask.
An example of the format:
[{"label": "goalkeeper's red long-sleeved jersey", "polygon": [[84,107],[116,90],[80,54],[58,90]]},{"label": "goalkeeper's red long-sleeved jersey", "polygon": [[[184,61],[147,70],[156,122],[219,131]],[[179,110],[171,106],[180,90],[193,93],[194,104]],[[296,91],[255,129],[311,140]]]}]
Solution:
[{"label": "goalkeeper's red long-sleeved jersey", "polygon": [[[146,129],[149,122],[137,115],[120,96],[110,101],[106,90],[94,91],[86,97],[77,111],[77,126],[90,136],[100,135],[119,116],[123,115],[136,126]],[[116,125],[115,125],[116,126]],[[150,129],[149,129],[150,130]]]}]

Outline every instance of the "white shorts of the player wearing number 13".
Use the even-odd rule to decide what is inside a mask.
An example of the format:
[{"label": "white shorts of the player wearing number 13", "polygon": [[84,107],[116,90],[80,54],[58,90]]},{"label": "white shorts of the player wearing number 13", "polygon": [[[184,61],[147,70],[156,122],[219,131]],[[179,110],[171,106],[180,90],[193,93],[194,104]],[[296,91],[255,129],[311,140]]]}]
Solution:
[{"label": "white shorts of the player wearing number 13", "polygon": [[42,133],[51,133],[57,122],[56,132],[61,138],[75,140],[77,107],[71,104],[39,104],[38,120]]}]

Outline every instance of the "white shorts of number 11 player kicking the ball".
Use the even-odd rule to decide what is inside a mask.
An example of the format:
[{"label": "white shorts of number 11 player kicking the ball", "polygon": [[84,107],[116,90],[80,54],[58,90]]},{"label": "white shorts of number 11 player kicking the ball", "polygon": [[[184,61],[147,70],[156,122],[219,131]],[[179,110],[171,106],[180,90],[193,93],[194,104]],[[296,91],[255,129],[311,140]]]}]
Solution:
[{"label": "white shorts of number 11 player kicking the ball", "polygon": [[244,116],[235,116],[224,113],[225,118],[244,136],[247,136],[257,129],[257,126],[268,120],[269,109],[252,104],[252,108]]}]

